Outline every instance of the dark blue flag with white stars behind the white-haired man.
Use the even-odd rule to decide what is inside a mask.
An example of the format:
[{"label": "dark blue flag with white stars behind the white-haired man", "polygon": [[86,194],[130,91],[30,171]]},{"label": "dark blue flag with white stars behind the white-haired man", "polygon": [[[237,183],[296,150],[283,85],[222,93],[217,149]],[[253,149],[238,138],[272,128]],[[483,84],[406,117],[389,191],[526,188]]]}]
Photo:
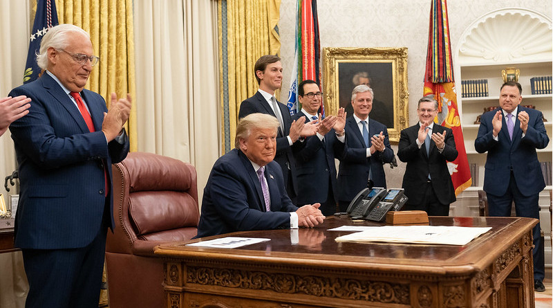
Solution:
[{"label": "dark blue flag with white stars behind the white-haired man", "polygon": [[37,52],[40,48],[42,37],[48,29],[57,25],[57,10],[54,0],[37,0],[37,12],[35,22],[32,24],[32,33],[29,38],[29,51],[23,76],[23,83],[37,80],[41,75],[41,69],[37,65]]}]

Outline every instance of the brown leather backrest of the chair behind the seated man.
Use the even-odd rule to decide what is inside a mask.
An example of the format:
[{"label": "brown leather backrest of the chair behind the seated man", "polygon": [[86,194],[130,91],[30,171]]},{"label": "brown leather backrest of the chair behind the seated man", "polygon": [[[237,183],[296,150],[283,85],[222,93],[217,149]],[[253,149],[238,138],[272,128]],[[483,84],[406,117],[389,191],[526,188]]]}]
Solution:
[{"label": "brown leather backrest of the chair behind the seated man", "polygon": [[114,233],[106,251],[153,255],[153,247],[196,236],[196,169],[167,156],[133,152],[113,165]]}]

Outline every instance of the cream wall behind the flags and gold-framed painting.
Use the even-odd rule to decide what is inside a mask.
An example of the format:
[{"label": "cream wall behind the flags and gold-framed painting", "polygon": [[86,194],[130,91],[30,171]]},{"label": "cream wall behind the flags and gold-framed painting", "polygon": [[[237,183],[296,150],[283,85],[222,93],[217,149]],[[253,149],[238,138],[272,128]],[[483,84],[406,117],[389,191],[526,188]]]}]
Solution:
[{"label": "cream wall behind the flags and gold-framed painting", "polygon": [[[409,125],[417,120],[416,104],[422,96],[426,65],[431,0],[318,0],[319,35],[324,47],[407,47]],[[519,7],[552,17],[550,0],[450,0],[447,2],[452,51],[475,19],[500,8]],[[281,0],[281,58],[284,67],[281,101],[288,98],[294,58],[296,0]],[[392,145],[395,153],[397,146]],[[401,187],[404,163],[385,166],[388,187]]]}]

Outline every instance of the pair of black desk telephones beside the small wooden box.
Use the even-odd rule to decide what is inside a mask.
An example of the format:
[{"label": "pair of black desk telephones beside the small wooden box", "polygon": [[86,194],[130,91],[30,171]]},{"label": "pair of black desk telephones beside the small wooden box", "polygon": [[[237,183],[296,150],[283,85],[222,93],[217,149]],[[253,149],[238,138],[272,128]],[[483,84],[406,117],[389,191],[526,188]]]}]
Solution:
[{"label": "pair of black desk telephones beside the small wooden box", "polygon": [[382,187],[365,188],[351,201],[348,206],[348,215],[383,221],[386,212],[401,210],[408,199],[402,188],[392,188],[391,190]]}]

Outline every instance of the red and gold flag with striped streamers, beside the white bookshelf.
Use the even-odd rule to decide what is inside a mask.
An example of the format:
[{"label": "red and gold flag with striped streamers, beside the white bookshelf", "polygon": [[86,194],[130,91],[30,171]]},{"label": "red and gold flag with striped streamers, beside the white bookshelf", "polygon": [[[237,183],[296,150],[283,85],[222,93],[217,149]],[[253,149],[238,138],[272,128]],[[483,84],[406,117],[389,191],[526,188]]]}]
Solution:
[{"label": "red and gold flag with striped streamers, beside the white bookshelf", "polygon": [[458,195],[471,185],[472,180],[457,108],[446,0],[432,0],[430,9],[424,96],[430,94],[433,94],[434,98],[438,100],[438,116],[434,122],[451,128],[453,136],[455,136],[455,146],[459,155],[455,161],[448,162],[447,166],[455,194]]}]

